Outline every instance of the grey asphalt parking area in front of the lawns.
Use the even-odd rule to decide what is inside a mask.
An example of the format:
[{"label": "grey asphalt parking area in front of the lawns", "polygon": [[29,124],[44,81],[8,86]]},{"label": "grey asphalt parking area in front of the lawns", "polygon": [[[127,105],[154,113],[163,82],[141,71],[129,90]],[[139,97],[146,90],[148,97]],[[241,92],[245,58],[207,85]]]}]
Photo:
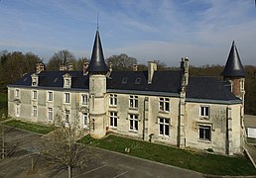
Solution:
[{"label": "grey asphalt parking area in front of the lawns", "polygon": [[[66,169],[51,169],[40,156],[41,135],[12,129],[6,136],[8,142],[18,142],[18,149],[10,158],[0,161],[0,177],[67,177]],[[73,178],[151,178],[151,177],[203,177],[202,174],[129,155],[93,148],[93,161],[82,170],[74,168]],[[32,171],[32,161],[35,164]]]}]

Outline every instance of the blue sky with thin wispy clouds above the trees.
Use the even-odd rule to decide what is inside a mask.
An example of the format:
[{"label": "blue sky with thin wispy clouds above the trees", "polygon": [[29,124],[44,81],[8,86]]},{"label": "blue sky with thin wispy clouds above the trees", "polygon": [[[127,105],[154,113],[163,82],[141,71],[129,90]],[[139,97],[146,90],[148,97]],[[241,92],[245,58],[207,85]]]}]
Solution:
[{"label": "blue sky with thin wispy clouds above the trees", "polygon": [[256,65],[254,0],[0,0],[0,50],[90,58],[97,13],[105,58],[224,65],[235,41],[242,63]]}]

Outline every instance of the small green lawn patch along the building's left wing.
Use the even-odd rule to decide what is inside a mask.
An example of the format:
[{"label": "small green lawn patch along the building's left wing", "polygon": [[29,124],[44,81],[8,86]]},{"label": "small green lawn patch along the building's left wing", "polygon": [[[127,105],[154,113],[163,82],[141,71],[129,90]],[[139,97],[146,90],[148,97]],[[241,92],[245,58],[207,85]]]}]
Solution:
[{"label": "small green lawn patch along the building's left wing", "polygon": [[30,131],[33,133],[38,133],[38,134],[49,134],[50,132],[54,131],[54,127],[48,127],[48,126],[43,126],[39,124],[32,124],[32,123],[27,123],[27,122],[21,122],[17,120],[11,120],[9,122],[6,122],[5,125],[11,126],[14,128],[19,128],[22,130]]}]

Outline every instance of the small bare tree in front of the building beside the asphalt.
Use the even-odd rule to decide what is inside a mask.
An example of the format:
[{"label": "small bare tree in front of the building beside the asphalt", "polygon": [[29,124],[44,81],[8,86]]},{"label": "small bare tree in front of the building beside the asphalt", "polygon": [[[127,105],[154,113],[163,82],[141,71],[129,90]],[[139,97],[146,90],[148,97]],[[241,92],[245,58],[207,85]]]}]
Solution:
[{"label": "small bare tree in front of the building beside the asphalt", "polygon": [[76,142],[84,135],[84,130],[80,127],[78,111],[67,119],[64,115],[57,115],[55,124],[60,127],[45,137],[42,153],[52,168],[62,166],[67,168],[70,178],[72,168],[84,167],[87,161],[92,160],[94,153],[90,147]]}]

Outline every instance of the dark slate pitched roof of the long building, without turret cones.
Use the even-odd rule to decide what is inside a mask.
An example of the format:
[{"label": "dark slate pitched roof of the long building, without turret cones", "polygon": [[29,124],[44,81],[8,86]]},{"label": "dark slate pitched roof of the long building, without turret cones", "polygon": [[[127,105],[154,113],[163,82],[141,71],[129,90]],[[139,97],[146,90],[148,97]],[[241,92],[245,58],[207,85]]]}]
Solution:
[{"label": "dark slate pitched roof of the long building, without turret cones", "polygon": [[[39,74],[39,87],[64,89],[63,75],[71,76],[71,89],[88,90],[89,75],[83,75],[82,71],[43,71]],[[11,87],[31,87],[31,75],[24,75]],[[187,92],[187,101],[210,100],[210,101],[236,101],[240,99],[230,92],[229,85],[214,77],[190,76]],[[152,94],[175,96],[181,91],[181,70],[155,71],[151,84],[148,84],[147,71],[112,71],[107,79],[108,91],[128,91],[128,93]],[[125,92],[124,92],[125,93]],[[164,94],[163,94],[164,93]]]}]

